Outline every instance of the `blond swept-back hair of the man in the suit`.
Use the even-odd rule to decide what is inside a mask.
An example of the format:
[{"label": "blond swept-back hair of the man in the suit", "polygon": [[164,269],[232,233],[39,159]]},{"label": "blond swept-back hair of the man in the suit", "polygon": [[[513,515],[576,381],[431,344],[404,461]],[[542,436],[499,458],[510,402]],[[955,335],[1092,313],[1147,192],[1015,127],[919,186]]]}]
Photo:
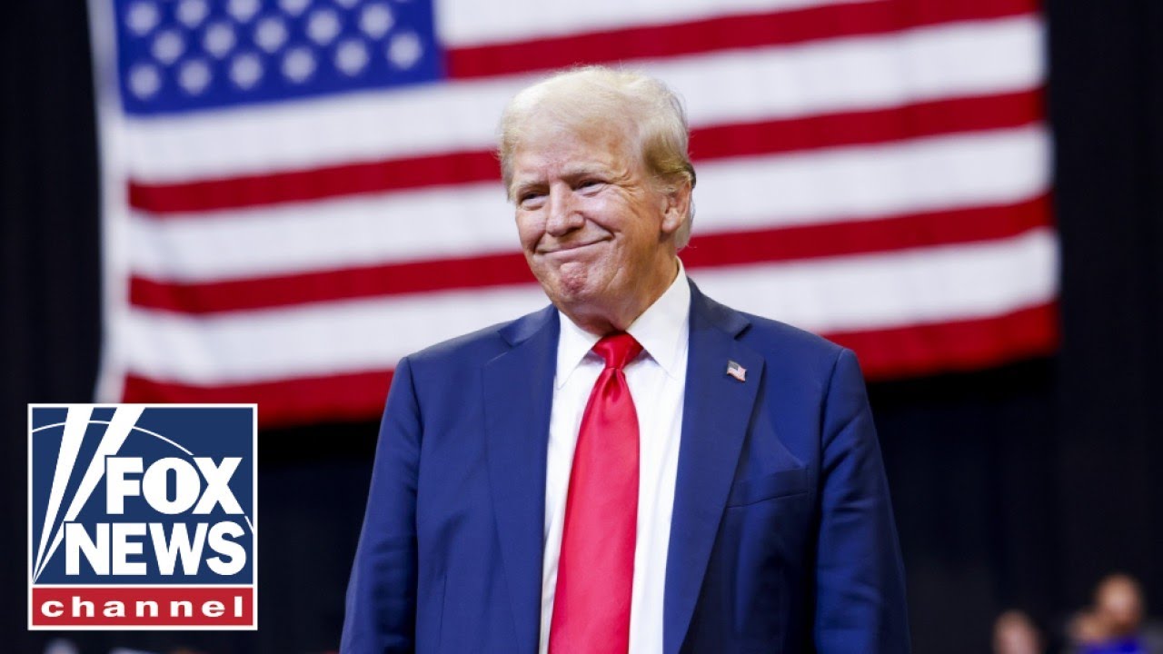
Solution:
[{"label": "blond swept-back hair of the man in the suit", "polygon": [[[688,130],[683,104],[662,81],[606,66],[559,72],[518,93],[501,114],[498,156],[505,193],[512,200],[513,152],[533,118],[549,118],[571,130],[620,121],[636,141],[637,156],[652,180],[666,192],[694,187],[687,155]],[[633,150],[632,150],[633,151]],[[677,247],[691,239],[694,204],[688,204],[675,234]]]}]

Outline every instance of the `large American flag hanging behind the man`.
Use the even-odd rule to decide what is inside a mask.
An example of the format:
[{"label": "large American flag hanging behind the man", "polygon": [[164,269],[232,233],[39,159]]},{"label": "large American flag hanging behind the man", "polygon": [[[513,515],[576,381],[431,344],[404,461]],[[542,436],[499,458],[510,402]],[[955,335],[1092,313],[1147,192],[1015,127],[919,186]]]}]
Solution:
[{"label": "large American flag hanging behind the man", "polygon": [[[1051,351],[1034,0],[91,0],[99,397],[365,419],[397,361],[544,306],[492,154],[578,63],[685,100],[687,271],[870,378]],[[450,389],[450,392],[456,392]]]}]

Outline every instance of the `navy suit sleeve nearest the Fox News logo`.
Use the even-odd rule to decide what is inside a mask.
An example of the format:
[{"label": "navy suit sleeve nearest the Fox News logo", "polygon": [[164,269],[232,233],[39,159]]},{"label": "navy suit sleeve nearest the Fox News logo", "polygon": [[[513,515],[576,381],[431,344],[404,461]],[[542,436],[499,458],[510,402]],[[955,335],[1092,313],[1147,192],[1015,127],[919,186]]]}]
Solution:
[{"label": "navy suit sleeve nearest the Fox News logo", "polygon": [[342,654],[414,652],[420,407],[407,358],[379,429],[363,531],[348,584]]}]

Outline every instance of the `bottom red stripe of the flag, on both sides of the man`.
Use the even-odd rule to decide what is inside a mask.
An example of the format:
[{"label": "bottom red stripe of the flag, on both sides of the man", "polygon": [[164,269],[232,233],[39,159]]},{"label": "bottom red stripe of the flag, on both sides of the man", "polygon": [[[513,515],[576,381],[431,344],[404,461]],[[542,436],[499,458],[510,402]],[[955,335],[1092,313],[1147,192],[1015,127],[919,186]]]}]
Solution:
[{"label": "bottom red stripe of the flag, on both sides of the man", "polygon": [[[932,375],[1044,356],[1057,347],[1056,305],[1022,308],[976,320],[914,325],[828,335],[856,350],[871,381]],[[259,425],[276,427],[327,420],[371,420],[383,407],[391,371],[277,382],[195,386],[130,375],[123,401],[257,403]]]}]

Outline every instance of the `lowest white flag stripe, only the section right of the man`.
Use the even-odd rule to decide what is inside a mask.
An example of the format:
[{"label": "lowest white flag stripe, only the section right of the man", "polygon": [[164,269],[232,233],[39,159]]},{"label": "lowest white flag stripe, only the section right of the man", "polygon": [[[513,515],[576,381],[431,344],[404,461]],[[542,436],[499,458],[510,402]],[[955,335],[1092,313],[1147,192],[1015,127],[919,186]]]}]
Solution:
[{"label": "lowest white flag stripe, only the section right of the man", "polygon": [[785,264],[699,270],[718,301],[816,333],[889,329],[999,315],[1054,299],[1057,240],[1007,240]]}]

